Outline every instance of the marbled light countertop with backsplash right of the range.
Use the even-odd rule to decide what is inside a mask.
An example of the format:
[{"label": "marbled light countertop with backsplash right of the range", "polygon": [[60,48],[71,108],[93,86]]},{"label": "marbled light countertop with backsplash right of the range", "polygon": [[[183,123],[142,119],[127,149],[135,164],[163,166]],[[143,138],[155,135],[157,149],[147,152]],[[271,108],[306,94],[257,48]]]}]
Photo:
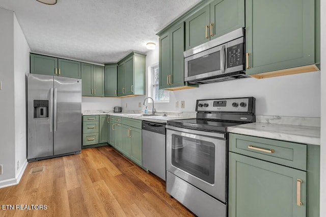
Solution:
[{"label": "marbled light countertop with backsplash right of the range", "polygon": [[255,123],[228,127],[228,132],[320,145],[320,118],[256,116]]}]

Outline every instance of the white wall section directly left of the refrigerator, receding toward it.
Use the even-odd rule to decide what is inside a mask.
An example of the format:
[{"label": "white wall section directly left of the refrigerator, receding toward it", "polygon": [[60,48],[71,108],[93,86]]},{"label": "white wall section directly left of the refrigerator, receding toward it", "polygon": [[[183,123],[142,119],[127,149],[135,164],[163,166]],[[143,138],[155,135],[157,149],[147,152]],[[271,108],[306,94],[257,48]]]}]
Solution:
[{"label": "white wall section directly left of the refrigerator, receding toward it", "polygon": [[[14,14],[15,178],[20,180],[26,160],[26,75],[30,73],[30,47]],[[17,162],[19,162],[17,167]]]}]

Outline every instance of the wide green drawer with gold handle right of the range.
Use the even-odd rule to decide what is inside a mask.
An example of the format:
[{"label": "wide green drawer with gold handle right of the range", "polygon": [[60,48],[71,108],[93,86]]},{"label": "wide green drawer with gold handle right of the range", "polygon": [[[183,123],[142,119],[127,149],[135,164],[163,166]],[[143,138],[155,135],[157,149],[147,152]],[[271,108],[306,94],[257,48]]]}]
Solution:
[{"label": "wide green drawer with gold handle right of the range", "polygon": [[307,170],[307,145],[229,133],[229,151]]}]

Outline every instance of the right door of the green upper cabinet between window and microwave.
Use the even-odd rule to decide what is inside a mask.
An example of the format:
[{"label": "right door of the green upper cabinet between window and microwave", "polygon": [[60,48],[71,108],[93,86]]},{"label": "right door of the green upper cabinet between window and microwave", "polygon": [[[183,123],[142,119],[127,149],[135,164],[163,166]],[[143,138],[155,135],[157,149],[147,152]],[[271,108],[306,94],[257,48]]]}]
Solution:
[{"label": "right door of the green upper cabinet between window and microwave", "polygon": [[[170,87],[184,86],[184,25],[183,23],[170,30]],[[165,77],[163,77],[165,78]]]}]

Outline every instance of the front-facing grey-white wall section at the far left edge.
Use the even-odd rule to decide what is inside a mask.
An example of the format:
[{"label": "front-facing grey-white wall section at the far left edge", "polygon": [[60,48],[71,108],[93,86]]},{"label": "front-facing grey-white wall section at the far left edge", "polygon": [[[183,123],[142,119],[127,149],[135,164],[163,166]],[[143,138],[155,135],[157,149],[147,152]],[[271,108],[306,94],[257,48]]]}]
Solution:
[{"label": "front-facing grey-white wall section at the far left edge", "polygon": [[14,13],[0,8],[0,186],[15,178]]}]

